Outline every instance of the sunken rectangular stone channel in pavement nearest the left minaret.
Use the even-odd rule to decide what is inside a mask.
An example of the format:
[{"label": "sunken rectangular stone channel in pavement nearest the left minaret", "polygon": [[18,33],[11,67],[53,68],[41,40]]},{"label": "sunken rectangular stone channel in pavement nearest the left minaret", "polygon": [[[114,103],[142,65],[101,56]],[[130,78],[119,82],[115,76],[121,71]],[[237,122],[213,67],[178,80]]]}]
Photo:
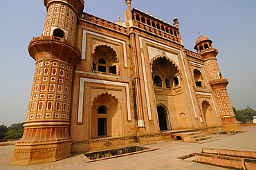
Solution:
[{"label": "sunken rectangular stone channel in pavement nearest the left minaret", "polygon": [[155,151],[155,150],[158,150],[158,149],[132,146],[132,147],[123,147],[118,149],[109,149],[104,151],[89,152],[89,153],[84,153],[84,155],[86,156],[86,158],[89,158],[89,160],[86,162],[93,162],[98,160],[105,160],[109,158],[116,158],[120,156],[143,153],[146,151]]}]

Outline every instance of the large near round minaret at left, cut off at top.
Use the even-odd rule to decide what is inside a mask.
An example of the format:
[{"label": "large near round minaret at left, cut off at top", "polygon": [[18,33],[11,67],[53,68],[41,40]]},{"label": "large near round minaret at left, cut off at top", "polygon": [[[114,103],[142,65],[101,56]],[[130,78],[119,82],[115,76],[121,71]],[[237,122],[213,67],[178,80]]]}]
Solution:
[{"label": "large near round minaret at left, cut off at top", "polygon": [[71,155],[69,114],[73,67],[81,53],[75,46],[77,18],[83,0],[44,0],[43,34],[30,41],[36,61],[24,135],[17,142],[12,164],[52,162]]}]

